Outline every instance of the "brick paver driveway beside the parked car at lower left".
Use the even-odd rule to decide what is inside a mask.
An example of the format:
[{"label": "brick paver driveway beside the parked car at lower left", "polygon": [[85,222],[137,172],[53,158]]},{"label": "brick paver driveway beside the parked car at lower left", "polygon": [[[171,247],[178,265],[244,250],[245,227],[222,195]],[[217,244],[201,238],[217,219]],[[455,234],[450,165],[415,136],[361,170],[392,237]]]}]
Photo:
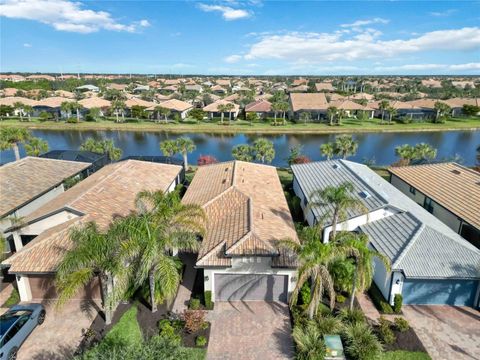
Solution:
[{"label": "brick paver driveway beside the parked car at lower left", "polygon": [[44,304],[45,322],[37,326],[18,351],[17,360],[68,359],[82,340],[82,329],[89,328],[97,311],[84,302],[70,301],[61,309]]}]

